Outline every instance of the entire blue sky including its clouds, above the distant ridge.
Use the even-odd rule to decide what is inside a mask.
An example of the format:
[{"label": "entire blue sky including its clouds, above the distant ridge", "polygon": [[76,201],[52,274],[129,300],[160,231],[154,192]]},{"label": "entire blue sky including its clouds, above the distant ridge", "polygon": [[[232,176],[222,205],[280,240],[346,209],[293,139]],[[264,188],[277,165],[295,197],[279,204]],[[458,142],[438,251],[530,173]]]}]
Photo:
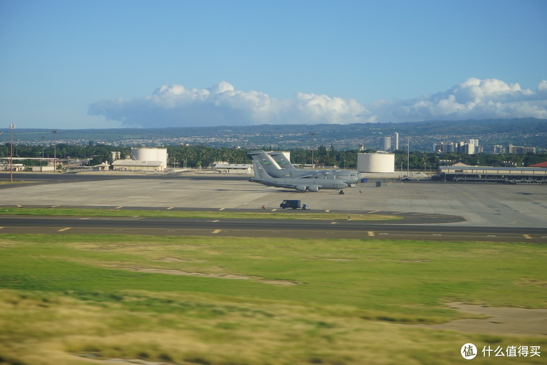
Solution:
[{"label": "entire blue sky including its clouds, above the distant ridge", "polygon": [[0,1],[7,128],[547,118],[547,2]]}]

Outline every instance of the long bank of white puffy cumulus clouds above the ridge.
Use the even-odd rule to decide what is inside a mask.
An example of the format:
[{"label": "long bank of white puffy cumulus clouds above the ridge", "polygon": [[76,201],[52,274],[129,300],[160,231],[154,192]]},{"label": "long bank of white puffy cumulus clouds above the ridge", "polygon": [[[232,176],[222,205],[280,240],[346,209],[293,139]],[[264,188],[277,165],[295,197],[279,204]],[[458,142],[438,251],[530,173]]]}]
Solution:
[{"label": "long bank of white puffy cumulus clouds above the ridge", "polygon": [[88,113],[144,128],[547,119],[547,80],[542,80],[533,92],[498,79],[469,78],[437,94],[408,100],[377,100],[366,106],[354,99],[301,92],[291,99],[280,100],[261,91],[236,90],[225,81],[207,89],[187,89],[175,84],[161,86],[152,95],[139,99],[97,101]]}]

